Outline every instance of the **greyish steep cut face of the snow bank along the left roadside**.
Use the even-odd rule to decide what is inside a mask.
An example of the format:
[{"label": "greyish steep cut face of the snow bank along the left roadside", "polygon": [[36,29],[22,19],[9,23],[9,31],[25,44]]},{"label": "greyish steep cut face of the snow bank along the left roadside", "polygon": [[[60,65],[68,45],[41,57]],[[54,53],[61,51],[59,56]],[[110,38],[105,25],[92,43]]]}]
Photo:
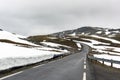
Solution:
[{"label": "greyish steep cut face of the snow bank along the left roadside", "polygon": [[46,59],[50,59],[52,57],[53,55],[47,54],[47,55],[29,56],[29,57],[3,58],[0,59],[0,70],[37,63]]}]

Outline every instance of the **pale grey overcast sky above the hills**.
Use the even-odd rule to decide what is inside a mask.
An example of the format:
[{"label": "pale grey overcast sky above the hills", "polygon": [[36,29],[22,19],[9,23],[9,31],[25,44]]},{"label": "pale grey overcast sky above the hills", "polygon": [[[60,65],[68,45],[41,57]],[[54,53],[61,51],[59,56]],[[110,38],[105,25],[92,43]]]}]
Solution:
[{"label": "pale grey overcast sky above the hills", "polygon": [[0,26],[26,36],[82,26],[120,28],[120,0],[0,0]]}]

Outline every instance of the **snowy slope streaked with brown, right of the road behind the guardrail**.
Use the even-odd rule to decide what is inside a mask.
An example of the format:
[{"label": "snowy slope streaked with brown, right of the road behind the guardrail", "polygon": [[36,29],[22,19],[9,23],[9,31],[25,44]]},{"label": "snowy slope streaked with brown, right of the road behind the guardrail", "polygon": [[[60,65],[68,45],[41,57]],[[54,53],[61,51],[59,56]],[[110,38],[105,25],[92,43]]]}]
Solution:
[{"label": "snowy slope streaked with brown, right of the road behind the guardrail", "polygon": [[[112,44],[115,43],[117,45],[120,45],[120,41],[105,38],[105,37],[100,37],[96,35],[89,35],[88,38],[86,37],[82,39],[89,41],[89,42],[85,42],[85,41],[79,41],[79,42],[89,45],[92,48],[92,55],[94,57],[120,61],[120,48],[119,47],[111,45],[111,43],[105,43],[104,41],[102,42],[98,40],[99,39],[107,40],[108,42],[112,42]],[[110,63],[108,62],[105,62],[104,64],[110,66]],[[113,67],[120,68],[120,65],[113,64]]]}]

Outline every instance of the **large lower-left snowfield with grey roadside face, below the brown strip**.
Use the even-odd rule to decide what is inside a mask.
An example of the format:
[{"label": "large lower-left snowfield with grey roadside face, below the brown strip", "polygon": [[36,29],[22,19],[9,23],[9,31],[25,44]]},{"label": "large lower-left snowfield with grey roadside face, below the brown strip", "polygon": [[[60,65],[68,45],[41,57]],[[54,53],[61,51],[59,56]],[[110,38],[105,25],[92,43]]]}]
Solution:
[{"label": "large lower-left snowfield with grey roadside face, below the brown strip", "polygon": [[36,63],[53,58],[54,55],[64,54],[63,52],[25,48],[1,42],[0,47],[0,70]]}]

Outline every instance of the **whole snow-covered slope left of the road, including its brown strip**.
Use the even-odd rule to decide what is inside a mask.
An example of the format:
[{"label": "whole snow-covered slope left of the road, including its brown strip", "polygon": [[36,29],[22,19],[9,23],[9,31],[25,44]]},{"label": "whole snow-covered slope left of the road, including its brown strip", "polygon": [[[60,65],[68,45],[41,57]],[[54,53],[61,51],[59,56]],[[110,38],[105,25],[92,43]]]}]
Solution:
[{"label": "whole snow-covered slope left of the road, including its brown strip", "polygon": [[[26,37],[12,34],[7,31],[0,31],[0,70],[16,66],[24,66],[53,58],[54,55],[68,54],[69,51],[46,46],[36,45],[25,40]],[[7,42],[12,41],[15,43]],[[17,43],[28,44],[27,47],[16,45]],[[60,44],[49,45],[59,47]],[[32,46],[32,47],[29,47]],[[60,45],[64,46],[64,45]]]}]

